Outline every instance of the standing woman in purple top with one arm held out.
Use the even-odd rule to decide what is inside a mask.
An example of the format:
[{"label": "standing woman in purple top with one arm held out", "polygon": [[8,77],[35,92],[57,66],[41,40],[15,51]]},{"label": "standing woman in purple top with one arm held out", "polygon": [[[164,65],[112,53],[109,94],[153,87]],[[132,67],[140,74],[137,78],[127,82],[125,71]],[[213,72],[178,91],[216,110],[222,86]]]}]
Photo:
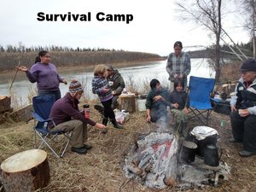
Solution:
[{"label": "standing woman in purple top with one arm held out", "polygon": [[55,65],[49,61],[49,53],[46,50],[41,50],[31,70],[28,70],[25,66],[16,68],[25,72],[27,79],[29,79],[31,83],[37,82],[38,96],[55,95],[56,101],[61,98],[60,83],[67,84],[67,81],[61,79]]}]

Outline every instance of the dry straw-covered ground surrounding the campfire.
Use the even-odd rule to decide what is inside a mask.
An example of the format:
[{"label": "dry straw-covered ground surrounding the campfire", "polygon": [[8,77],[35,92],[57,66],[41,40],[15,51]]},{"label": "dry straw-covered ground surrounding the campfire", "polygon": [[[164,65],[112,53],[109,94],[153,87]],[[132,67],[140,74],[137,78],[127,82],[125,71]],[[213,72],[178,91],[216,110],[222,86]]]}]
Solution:
[{"label": "dry straw-covered ground surrounding the campfire", "polygon": [[[93,108],[91,119],[101,122],[101,116]],[[134,138],[141,133],[154,131],[153,124],[145,121],[145,112],[131,113],[131,118],[125,122],[123,130],[114,129],[108,125],[108,134],[104,135],[95,127],[89,128],[89,143],[93,148],[88,154],[76,154],[68,148],[62,159],[57,159],[48,149],[50,168],[50,183],[45,192],[115,192],[115,191],[182,191],[177,187],[166,189],[148,189],[127,177],[123,172],[125,155],[134,148]],[[221,121],[225,125],[221,126]],[[200,125],[196,120],[189,122],[189,128]],[[15,123],[9,120],[0,125],[0,163],[9,156],[20,151],[34,148],[33,121],[28,124]],[[220,179],[218,187],[194,187],[183,191],[256,191],[256,156],[241,158],[238,152],[242,146],[239,143],[229,143],[231,136],[230,118],[228,115],[212,112],[209,126],[216,129],[219,134],[218,146],[223,148],[221,160],[231,167],[230,177],[223,181]],[[0,187],[0,191],[3,188]]]}]

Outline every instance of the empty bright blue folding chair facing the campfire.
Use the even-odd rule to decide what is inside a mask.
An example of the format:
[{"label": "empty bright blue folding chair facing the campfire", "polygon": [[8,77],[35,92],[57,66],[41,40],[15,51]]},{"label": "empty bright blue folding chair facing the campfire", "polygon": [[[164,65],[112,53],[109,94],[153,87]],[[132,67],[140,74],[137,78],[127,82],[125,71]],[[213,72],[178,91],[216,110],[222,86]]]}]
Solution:
[{"label": "empty bright blue folding chair facing the campfire", "polygon": [[192,113],[192,116],[190,116],[189,119],[197,118],[203,125],[208,125],[208,119],[212,112],[212,104],[210,98],[214,84],[215,79],[190,76],[189,113]]}]

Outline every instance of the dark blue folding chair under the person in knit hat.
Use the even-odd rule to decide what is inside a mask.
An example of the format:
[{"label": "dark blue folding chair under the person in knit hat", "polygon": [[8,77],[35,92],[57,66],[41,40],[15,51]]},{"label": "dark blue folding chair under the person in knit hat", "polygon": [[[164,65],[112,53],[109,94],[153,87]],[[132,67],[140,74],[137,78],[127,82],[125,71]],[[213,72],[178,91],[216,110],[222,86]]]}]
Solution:
[{"label": "dark blue folding chair under the person in knit hat", "polygon": [[[64,153],[67,150],[67,146],[71,140],[68,133],[63,131],[48,131],[48,124],[52,119],[49,119],[50,110],[55,102],[54,95],[47,96],[34,96],[32,98],[33,111],[32,115],[35,119],[34,131],[35,131],[35,146],[37,148],[37,137],[41,138],[40,148],[48,147],[56,157],[63,157]],[[54,124],[54,122],[53,122]],[[54,124],[55,125],[55,124]],[[63,135],[61,139],[60,135]],[[67,139],[65,147],[56,152],[55,149],[51,146],[53,143],[61,143],[63,139]],[[63,143],[62,143],[63,144]]]}]

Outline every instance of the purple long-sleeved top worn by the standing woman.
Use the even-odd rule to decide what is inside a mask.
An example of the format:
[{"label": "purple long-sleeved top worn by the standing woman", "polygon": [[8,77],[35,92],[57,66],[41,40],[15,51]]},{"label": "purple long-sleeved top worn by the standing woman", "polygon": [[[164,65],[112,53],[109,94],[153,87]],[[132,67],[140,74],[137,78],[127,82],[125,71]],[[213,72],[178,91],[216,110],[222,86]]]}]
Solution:
[{"label": "purple long-sleeved top worn by the standing woman", "polygon": [[30,71],[26,71],[26,77],[31,83],[37,82],[38,90],[58,90],[62,82],[54,64],[40,62],[32,65]]}]

